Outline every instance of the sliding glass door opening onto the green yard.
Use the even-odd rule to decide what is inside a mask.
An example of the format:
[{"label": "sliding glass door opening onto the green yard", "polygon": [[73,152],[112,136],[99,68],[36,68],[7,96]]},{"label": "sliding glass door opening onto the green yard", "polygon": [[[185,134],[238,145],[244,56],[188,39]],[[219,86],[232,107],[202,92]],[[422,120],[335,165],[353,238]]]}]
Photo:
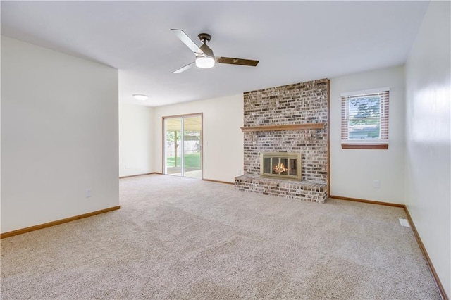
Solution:
[{"label": "sliding glass door opening onto the green yard", "polygon": [[202,114],[163,117],[165,174],[202,179]]}]

